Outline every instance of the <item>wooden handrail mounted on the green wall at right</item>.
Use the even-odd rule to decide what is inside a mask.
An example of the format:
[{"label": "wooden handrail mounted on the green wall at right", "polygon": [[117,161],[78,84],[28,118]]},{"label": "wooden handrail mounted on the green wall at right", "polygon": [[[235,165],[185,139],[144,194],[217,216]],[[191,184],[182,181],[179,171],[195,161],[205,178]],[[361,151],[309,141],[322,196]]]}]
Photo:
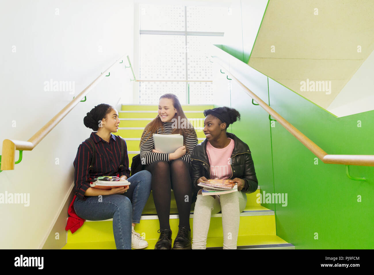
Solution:
[{"label": "wooden handrail mounted on the green wall at right", "polygon": [[313,154],[315,154],[322,162],[326,164],[345,164],[345,165],[361,165],[361,166],[374,166],[374,155],[328,155],[324,150],[321,149],[317,144],[310,140],[306,135],[296,129],[291,123],[285,120],[280,114],[273,110],[269,105],[261,100],[257,95],[254,94],[248,87],[240,82],[230,71],[219,61],[217,56],[212,56],[215,61],[222,68],[226,70],[232,80],[235,80],[244,91],[254,99],[267,113],[272,115],[288,132],[290,132],[295,138],[297,138],[304,146],[306,146]]}]

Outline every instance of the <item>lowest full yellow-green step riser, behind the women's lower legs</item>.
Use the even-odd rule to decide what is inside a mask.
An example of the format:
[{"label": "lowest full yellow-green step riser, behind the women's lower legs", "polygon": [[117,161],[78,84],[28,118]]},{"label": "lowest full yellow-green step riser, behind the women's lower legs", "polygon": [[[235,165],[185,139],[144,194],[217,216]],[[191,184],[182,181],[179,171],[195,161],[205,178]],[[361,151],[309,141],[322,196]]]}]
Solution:
[{"label": "lowest full yellow-green step riser, behind the women's lower legs", "polygon": [[[172,238],[178,233],[179,219],[170,219]],[[193,219],[190,219],[191,234],[193,234]],[[159,220],[141,220],[135,230],[145,239],[157,239]],[[240,217],[239,235],[275,235],[275,216],[242,216]],[[211,218],[208,237],[223,237],[222,218]],[[90,221],[74,234],[68,231],[68,243],[87,241],[114,241],[113,221]]]}]

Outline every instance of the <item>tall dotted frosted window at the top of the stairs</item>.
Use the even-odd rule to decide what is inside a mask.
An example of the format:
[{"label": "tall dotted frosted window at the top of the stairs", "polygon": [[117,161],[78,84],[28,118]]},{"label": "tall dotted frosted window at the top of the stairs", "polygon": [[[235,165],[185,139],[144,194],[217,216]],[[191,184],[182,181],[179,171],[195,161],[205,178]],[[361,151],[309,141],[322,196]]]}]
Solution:
[{"label": "tall dotted frosted window at the top of the stairs", "polygon": [[[186,8],[187,19],[184,16]],[[223,32],[228,7],[140,5],[141,30]],[[222,44],[221,36],[169,34],[140,35],[141,80],[212,80],[208,46]],[[187,47],[186,47],[187,43]],[[187,51],[187,60],[186,60]],[[187,62],[187,71],[186,71]],[[190,104],[213,103],[212,84],[189,82]],[[162,94],[173,93],[187,104],[187,82],[140,82],[140,103],[157,104]]]}]

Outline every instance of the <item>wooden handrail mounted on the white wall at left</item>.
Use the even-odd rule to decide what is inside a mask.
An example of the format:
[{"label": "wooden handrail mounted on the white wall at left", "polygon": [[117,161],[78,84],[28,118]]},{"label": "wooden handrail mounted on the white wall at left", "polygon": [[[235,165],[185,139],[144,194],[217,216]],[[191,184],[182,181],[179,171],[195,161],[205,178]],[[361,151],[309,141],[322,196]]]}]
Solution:
[{"label": "wooden handrail mounted on the white wall at left", "polygon": [[39,131],[37,131],[28,141],[22,140],[10,140],[6,139],[3,141],[3,151],[1,155],[1,167],[0,170],[13,170],[15,151],[16,150],[27,150],[31,151],[39,144],[43,138],[52,131],[53,128],[80,102],[80,100],[85,97],[91,89],[101,81],[103,77],[107,74],[111,67],[113,67],[118,60],[123,59],[125,55],[116,60],[112,65],[110,65],[107,70],[101,73],[95,80],[93,80],[79,95],[77,95],[67,106],[59,111],[51,120],[49,120],[46,125],[44,125]]}]

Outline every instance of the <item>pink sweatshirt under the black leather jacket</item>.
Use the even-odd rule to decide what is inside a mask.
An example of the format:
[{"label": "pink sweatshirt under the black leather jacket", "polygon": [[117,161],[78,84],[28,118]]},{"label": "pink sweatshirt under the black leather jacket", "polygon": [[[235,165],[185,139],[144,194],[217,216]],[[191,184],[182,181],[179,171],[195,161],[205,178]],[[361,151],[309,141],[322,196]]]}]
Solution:
[{"label": "pink sweatshirt under the black leather jacket", "polygon": [[230,139],[225,148],[215,148],[209,141],[206,143],[206,154],[211,166],[211,180],[225,179],[232,176],[230,157],[234,150],[234,140]]}]

